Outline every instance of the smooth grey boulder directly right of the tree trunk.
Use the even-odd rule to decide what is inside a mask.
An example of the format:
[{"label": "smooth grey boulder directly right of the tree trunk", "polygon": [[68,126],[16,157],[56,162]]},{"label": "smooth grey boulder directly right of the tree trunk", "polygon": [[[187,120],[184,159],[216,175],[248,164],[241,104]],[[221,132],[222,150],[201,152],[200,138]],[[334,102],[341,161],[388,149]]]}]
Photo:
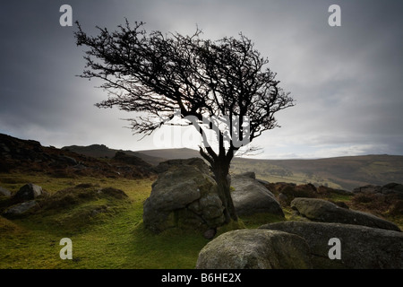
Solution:
[{"label": "smooth grey boulder directly right of the tree trunk", "polygon": [[284,217],[276,197],[249,174],[233,175],[231,186],[235,188],[231,196],[238,215],[271,213]]}]

